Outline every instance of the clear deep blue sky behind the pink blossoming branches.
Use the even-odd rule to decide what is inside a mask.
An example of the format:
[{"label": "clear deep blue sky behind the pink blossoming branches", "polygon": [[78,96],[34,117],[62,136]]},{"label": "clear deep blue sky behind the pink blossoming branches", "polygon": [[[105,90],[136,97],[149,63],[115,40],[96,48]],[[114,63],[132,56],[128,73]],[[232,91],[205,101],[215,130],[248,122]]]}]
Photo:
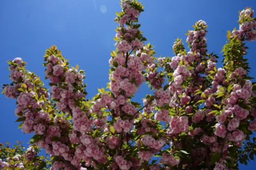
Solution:
[{"label": "clear deep blue sky behind the pink blossoming branches", "polygon": [[[172,57],[172,45],[177,37],[186,39],[185,33],[199,19],[209,25],[208,52],[214,52],[222,60],[221,50],[226,42],[226,31],[238,27],[238,11],[252,7],[256,1],[140,1],[144,12],[139,20],[144,36],[155,46],[158,56]],[[86,71],[88,98],[105,87],[109,81],[110,52],[115,49],[113,37],[117,23],[115,12],[120,11],[118,1],[103,0],[2,0],[0,1],[0,84],[9,83],[6,63],[15,57],[23,58],[27,68],[44,80],[42,66],[45,50],[52,44],[70,59],[71,65],[79,64]],[[246,58],[251,67],[250,76],[256,77],[256,42],[247,42]],[[221,63],[218,64],[221,66]],[[255,79],[254,79],[255,81]],[[48,84],[48,81],[45,81]],[[148,92],[142,85],[135,100]],[[0,95],[0,142],[23,140],[28,142],[32,134],[17,130],[14,115],[15,101]],[[241,169],[252,169],[251,162]]]}]

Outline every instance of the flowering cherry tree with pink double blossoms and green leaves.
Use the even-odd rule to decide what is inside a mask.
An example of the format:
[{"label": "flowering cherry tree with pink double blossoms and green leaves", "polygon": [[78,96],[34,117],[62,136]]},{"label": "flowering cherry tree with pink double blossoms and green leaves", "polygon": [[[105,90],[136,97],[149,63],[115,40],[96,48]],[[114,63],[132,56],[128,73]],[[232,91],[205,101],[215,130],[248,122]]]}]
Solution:
[{"label": "flowering cherry tree with pink double blossoms and green leaves", "polygon": [[[245,41],[256,39],[253,10],[240,11],[239,30],[228,31],[223,67],[208,53],[203,20],[188,31],[185,50],[154,57],[138,24],[143,6],[122,1],[115,21],[110,82],[86,99],[84,71],[69,65],[56,46],[45,54],[51,92],[20,58],[8,61],[17,100],[16,122],[34,132],[27,150],[1,145],[0,169],[238,169],[256,154],[255,89],[248,77]],[[133,96],[143,83],[154,91],[143,105]],[[50,160],[37,156],[45,149]],[[29,156],[28,156],[29,155]]]}]

